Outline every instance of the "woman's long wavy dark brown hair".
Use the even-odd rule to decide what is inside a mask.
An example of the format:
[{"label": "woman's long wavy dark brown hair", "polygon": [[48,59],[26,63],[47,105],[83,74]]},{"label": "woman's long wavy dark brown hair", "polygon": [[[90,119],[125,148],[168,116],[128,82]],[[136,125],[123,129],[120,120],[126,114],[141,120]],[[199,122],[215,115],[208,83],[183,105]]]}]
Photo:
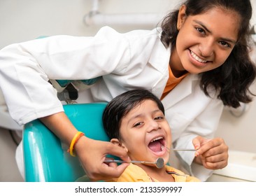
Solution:
[{"label": "woman's long wavy dark brown hair", "polygon": [[[250,41],[250,18],[252,6],[250,0],[187,0],[185,3],[186,15],[206,13],[211,8],[222,7],[233,10],[241,17],[239,21],[238,41],[227,58],[226,62],[217,69],[201,73],[201,89],[209,96],[209,88],[214,87],[219,92],[218,98],[225,106],[234,108],[239,102],[248,103],[252,99],[249,87],[256,77],[255,65],[249,56],[248,41]],[[178,35],[178,10],[169,13],[162,22],[161,41],[166,48],[175,47]]]}]

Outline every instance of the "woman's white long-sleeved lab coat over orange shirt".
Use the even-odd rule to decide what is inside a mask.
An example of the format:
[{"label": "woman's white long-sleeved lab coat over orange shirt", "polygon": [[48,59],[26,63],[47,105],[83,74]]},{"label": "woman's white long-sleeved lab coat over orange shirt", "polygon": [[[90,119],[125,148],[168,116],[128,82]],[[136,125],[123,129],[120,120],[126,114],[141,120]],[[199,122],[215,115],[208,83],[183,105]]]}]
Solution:
[{"label": "woman's white long-sleeved lab coat over orange shirt", "polygon": [[[94,37],[52,36],[3,48],[0,52],[0,85],[10,115],[19,124],[63,111],[48,80],[85,80],[102,76],[78,102],[109,102],[134,88],[161,97],[169,78],[170,50],[160,41],[161,29],[119,34],[109,27]],[[206,97],[199,76],[184,78],[163,100],[171,125],[173,145],[192,148],[197,135],[213,137],[222,113],[222,102]],[[215,95],[213,94],[213,97]],[[193,165],[193,153],[179,153],[187,171],[202,181],[212,171]]]}]

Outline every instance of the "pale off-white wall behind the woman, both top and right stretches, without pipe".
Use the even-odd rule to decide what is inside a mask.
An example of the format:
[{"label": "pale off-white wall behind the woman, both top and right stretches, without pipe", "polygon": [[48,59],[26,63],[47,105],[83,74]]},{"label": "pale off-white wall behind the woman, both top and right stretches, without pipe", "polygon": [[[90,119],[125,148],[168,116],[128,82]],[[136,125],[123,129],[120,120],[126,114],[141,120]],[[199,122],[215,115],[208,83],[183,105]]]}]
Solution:
[{"label": "pale off-white wall behind the woman, both top and right stretches, without pipe", "polygon": [[[178,2],[179,0],[101,0],[99,11],[101,13],[166,13]],[[252,0],[252,3],[256,10],[256,1]],[[1,0],[0,48],[42,35],[94,35],[99,27],[87,27],[83,23],[83,17],[89,13],[91,6],[91,0]],[[253,24],[256,24],[255,18],[256,12],[253,13]],[[155,25],[152,25],[147,28],[154,27]],[[115,27],[118,31],[135,28],[138,27]],[[256,89],[255,86],[253,88]],[[217,136],[225,138],[231,149],[256,153],[255,116],[255,102],[248,105],[246,113],[240,118],[232,116],[225,110]]]}]

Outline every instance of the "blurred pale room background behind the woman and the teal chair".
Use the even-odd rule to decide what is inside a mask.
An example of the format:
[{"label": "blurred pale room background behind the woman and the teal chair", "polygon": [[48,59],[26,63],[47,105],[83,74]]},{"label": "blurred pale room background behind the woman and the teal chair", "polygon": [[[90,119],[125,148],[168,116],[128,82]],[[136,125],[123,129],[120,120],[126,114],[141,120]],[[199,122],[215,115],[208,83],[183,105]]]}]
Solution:
[{"label": "blurred pale room background behind the woman and the teal chair", "polygon": [[[256,1],[251,2],[256,10]],[[39,36],[94,36],[104,25],[120,32],[153,29],[180,3],[180,0],[0,0],[0,49]],[[256,24],[256,11],[251,24]],[[255,50],[251,56],[256,62]],[[255,84],[252,91],[256,92]],[[250,153],[256,160],[255,116],[255,101],[242,104],[239,109],[226,108],[216,137],[224,138],[231,151]],[[23,181],[15,162],[15,149],[21,137],[22,127],[8,116],[0,90],[0,181]]]}]

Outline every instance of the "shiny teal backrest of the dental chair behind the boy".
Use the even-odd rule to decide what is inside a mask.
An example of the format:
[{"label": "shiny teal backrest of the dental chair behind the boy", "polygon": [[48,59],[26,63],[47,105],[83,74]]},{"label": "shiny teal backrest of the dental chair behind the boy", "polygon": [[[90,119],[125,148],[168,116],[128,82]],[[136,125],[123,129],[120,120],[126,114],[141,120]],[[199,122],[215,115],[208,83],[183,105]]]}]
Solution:
[{"label": "shiny teal backrest of the dental chair behind the boy", "polygon": [[[109,141],[101,120],[105,107],[105,102],[71,104],[64,105],[64,111],[73,125],[87,137]],[[78,158],[71,157],[66,152],[68,146],[62,145],[40,120],[24,126],[23,148],[25,181],[69,182],[85,175]]]}]

